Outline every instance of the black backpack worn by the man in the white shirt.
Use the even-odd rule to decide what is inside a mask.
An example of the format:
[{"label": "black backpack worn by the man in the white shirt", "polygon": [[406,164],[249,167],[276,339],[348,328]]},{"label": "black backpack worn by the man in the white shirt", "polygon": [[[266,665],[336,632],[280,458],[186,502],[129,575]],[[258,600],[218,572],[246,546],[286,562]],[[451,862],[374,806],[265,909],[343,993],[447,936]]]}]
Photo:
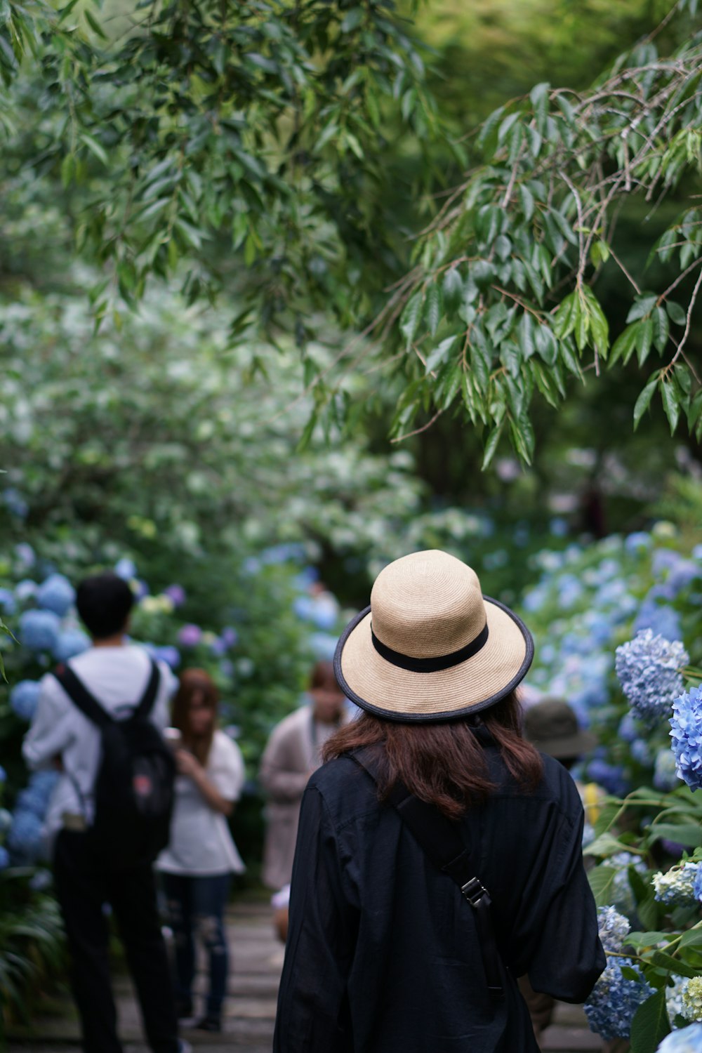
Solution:
[{"label": "black backpack worn by the man in the white shirt", "polygon": [[[87,831],[95,856],[114,870],[152,863],[168,843],[176,777],[173,753],[148,718],[159,688],[158,665],[152,659],[146,690],[123,720],[109,716],[67,665],[54,675],[100,729],[95,818]],[[80,791],[79,796],[83,804]]]}]

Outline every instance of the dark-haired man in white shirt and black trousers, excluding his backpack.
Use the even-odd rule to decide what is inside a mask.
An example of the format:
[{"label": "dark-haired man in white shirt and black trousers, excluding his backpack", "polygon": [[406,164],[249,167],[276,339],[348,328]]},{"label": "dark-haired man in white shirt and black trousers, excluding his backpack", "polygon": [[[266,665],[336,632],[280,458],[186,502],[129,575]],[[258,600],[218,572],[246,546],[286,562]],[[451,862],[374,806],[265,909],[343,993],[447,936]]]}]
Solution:
[{"label": "dark-haired man in white shirt and black trousers, excluding his backpack", "polygon": [[[76,602],[93,645],[72,658],[68,667],[109,716],[126,719],[142,698],[153,669],[147,652],[125,635],[134,603],[132,590],[116,574],[100,574],[81,582]],[[159,662],[158,671],[148,718],[162,729],[176,683],[166,665]],[[41,681],[39,704],[22,752],[29,768],[57,768],[62,773],[49,801],[45,833],[53,846],[54,881],[71,950],[84,1053],[122,1053],[109,981],[106,902],[124,942],[151,1049],[154,1053],[189,1049],[177,1037],[153,869],[145,861],[114,870],[96,855],[89,833],[100,732],[52,674]]]}]

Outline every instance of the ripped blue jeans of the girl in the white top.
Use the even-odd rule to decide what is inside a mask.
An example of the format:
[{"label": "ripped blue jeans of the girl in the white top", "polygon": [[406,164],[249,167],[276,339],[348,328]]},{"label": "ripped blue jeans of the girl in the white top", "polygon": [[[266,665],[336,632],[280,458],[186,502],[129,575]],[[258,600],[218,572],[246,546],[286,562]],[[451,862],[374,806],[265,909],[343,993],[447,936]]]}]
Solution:
[{"label": "ripped blue jeans of the girl in the white top", "polygon": [[195,979],[195,939],[199,937],[209,960],[209,988],[206,1015],[219,1017],[226,994],[229,951],[224,931],[224,908],[229,892],[230,874],[189,877],[161,875],[166,896],[168,923],[176,946],[176,998],[189,1005]]}]

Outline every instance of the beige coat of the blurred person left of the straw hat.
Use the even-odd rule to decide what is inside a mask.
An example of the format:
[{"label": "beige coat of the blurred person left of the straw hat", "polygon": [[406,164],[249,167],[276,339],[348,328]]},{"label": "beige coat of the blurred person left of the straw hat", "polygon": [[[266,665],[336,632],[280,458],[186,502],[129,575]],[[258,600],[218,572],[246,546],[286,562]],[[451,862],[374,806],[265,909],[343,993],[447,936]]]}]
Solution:
[{"label": "beige coat of the blurred person left of the straw hat", "polygon": [[335,731],[335,726],[315,721],[310,706],[302,706],[270,733],[260,772],[268,794],[263,882],[269,889],[289,883],[302,794],[321,763],[321,746]]}]

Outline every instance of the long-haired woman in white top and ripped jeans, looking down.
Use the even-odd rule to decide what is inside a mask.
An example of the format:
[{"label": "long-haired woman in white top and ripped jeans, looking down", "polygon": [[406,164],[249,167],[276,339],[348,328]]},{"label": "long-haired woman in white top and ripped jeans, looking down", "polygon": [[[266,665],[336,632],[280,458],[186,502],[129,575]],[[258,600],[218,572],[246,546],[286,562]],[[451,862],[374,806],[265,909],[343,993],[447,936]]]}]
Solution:
[{"label": "long-haired woman in white top and ripped jeans, looking down", "polygon": [[188,669],[174,699],[176,804],[171,842],[157,859],[176,947],[176,1006],[180,1018],[193,1015],[195,940],[207,951],[209,986],[205,1013],[195,1027],[220,1031],[229,955],[224,909],[232,874],[244,865],[232,839],[227,817],[244,782],[244,761],[236,742],[217,728],[218,692],[204,670]]}]

